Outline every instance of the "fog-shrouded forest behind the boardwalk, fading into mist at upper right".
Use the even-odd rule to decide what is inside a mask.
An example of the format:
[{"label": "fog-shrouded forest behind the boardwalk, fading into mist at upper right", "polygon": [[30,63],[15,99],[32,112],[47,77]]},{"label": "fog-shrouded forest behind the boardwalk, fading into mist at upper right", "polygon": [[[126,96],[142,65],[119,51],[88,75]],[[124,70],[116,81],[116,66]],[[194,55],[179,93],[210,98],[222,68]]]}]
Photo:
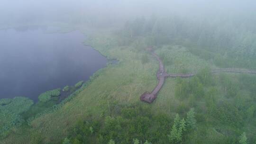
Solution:
[{"label": "fog-shrouded forest behind the boardwalk, fading into mist at upper right", "polygon": [[117,32],[118,43],[137,49],[183,45],[203,59],[213,59],[220,67],[256,69],[256,17],[230,17],[137,18]]}]

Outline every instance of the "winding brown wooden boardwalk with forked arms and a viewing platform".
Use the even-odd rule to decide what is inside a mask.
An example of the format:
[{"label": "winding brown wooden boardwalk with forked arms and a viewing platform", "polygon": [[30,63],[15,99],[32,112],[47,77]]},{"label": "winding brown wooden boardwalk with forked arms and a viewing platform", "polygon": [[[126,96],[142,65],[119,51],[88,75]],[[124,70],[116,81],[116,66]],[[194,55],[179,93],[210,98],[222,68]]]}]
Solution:
[{"label": "winding brown wooden boardwalk with forked arms and a viewing platform", "polygon": [[[157,93],[161,90],[161,88],[164,85],[165,82],[165,78],[167,77],[182,77],[182,78],[189,78],[194,76],[194,73],[188,73],[188,74],[183,74],[183,73],[166,73],[165,72],[165,66],[163,64],[163,62],[161,61],[161,59],[158,57],[157,54],[155,54],[154,52],[152,52],[152,55],[155,56],[155,58],[157,59],[157,61],[159,62],[159,70],[156,73],[156,77],[158,79],[158,84],[156,85],[155,89],[152,92],[144,92],[141,96],[140,96],[140,100],[148,102],[148,103],[152,103],[156,96]],[[253,70],[247,70],[247,69],[229,69],[229,68],[222,68],[222,69],[215,69],[211,71],[212,73],[219,73],[219,72],[232,72],[232,73],[255,73],[256,71]]]}]

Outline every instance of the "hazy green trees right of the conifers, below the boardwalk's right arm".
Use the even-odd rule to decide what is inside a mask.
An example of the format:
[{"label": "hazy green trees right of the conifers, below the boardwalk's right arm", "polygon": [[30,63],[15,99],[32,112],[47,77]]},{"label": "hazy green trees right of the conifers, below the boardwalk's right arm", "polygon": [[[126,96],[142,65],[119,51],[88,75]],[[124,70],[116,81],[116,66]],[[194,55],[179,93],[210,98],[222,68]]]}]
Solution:
[{"label": "hazy green trees right of the conifers, below the boardwalk's right arm", "polygon": [[[177,112],[184,113],[190,107],[196,108],[199,112],[197,120],[203,125],[198,132],[207,131],[208,126],[213,126],[217,134],[224,135],[221,138],[224,144],[237,144],[238,136],[246,136],[243,134],[246,131],[248,144],[256,142],[255,76],[240,74],[230,77],[226,73],[213,75],[206,68],[191,79],[176,81],[175,97],[181,101]],[[202,139],[198,138],[200,141]]]}]

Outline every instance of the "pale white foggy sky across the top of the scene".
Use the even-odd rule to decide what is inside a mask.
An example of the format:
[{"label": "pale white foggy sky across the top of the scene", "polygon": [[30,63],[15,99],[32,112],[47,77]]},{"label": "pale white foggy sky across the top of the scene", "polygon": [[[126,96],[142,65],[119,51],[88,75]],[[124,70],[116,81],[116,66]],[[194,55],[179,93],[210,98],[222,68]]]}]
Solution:
[{"label": "pale white foggy sky across the top of the scene", "polygon": [[[0,0],[0,25],[86,19],[127,20],[151,15],[178,14],[248,16],[256,13],[256,0]],[[82,20],[82,21],[81,21]]]}]

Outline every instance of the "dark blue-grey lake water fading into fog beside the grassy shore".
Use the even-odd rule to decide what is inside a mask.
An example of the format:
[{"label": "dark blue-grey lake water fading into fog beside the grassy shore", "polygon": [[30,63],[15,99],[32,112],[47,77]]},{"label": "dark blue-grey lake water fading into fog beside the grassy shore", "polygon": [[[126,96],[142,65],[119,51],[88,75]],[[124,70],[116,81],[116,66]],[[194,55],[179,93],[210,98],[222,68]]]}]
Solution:
[{"label": "dark blue-grey lake water fading into fog beside the grassy shore", "polygon": [[82,44],[78,31],[46,33],[47,28],[0,30],[0,99],[74,85],[106,66],[107,59]]}]

